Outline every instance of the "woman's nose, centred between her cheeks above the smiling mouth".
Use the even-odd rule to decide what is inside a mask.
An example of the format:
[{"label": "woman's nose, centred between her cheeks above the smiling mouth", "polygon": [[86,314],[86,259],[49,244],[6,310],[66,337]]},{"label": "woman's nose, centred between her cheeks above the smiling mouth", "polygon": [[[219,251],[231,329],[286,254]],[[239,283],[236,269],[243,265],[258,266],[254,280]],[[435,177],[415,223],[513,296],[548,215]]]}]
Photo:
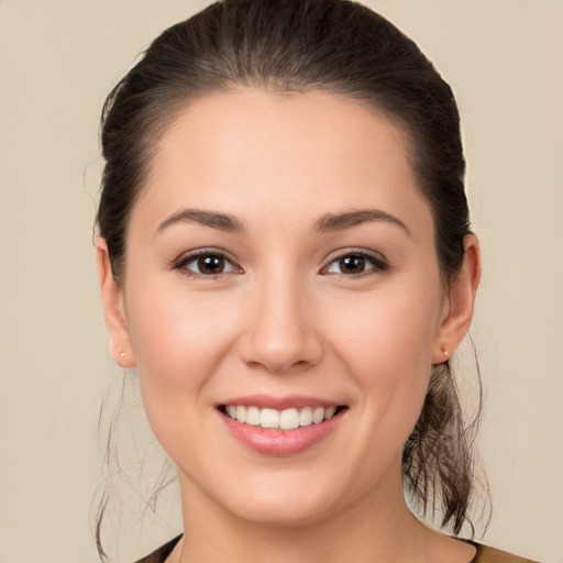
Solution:
[{"label": "woman's nose, centred between her cheeks above the smiling mouth", "polygon": [[257,283],[251,292],[240,341],[243,361],[275,374],[317,364],[322,342],[302,285],[278,275]]}]

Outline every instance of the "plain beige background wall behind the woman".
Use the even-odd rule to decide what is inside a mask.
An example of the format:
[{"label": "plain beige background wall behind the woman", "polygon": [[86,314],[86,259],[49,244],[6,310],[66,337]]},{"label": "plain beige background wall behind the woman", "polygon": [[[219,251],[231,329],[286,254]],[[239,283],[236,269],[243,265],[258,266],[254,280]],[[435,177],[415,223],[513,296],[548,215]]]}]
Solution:
[{"label": "plain beige background wall behind the woman", "polygon": [[[120,377],[91,225],[104,95],[206,1],[0,0],[0,562],[93,563],[101,397]],[[563,2],[374,0],[456,92],[485,274],[474,336],[487,543],[563,562]],[[123,560],[179,529],[162,525]]]}]

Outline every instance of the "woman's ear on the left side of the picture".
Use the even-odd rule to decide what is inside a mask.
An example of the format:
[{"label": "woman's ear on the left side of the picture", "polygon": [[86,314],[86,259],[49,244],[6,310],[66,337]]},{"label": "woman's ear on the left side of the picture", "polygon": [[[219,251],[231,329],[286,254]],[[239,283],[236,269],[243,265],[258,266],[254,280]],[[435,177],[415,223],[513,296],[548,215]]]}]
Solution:
[{"label": "woman's ear on the left side of the picture", "polygon": [[111,272],[110,255],[104,239],[96,241],[96,258],[103,316],[111,339],[111,354],[121,367],[135,367],[123,303],[123,289]]}]

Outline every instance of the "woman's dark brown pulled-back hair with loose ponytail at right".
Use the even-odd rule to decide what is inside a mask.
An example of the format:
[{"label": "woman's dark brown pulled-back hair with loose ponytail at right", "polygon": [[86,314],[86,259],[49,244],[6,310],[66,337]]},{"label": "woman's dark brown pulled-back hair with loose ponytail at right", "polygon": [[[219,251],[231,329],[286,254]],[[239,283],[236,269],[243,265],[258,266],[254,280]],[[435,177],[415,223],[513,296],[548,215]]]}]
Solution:
[{"label": "woman's dark brown pulled-back hair with loose ponytail at right", "polygon": [[[470,233],[459,112],[418,46],[346,0],[223,0],[159,35],[103,107],[97,222],[118,283],[129,218],[161,135],[190,101],[240,86],[335,92],[394,122],[432,211],[443,283],[457,275]],[[449,363],[433,368],[402,467],[415,500],[424,511],[440,507],[442,525],[457,534],[468,520],[472,453]],[[100,521],[102,553],[99,530]]]}]

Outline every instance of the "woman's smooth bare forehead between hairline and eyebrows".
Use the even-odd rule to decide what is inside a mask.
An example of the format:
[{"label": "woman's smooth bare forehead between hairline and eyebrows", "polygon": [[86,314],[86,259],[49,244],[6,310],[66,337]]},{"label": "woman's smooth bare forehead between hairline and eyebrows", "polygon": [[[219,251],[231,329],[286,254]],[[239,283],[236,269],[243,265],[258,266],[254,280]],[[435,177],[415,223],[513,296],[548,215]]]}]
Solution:
[{"label": "woman's smooth bare forehead between hairline and eyebrows", "polygon": [[308,210],[312,221],[313,213],[374,206],[430,217],[396,125],[329,92],[240,89],[200,98],[176,117],[133,219],[155,223],[197,207],[287,224]]}]

